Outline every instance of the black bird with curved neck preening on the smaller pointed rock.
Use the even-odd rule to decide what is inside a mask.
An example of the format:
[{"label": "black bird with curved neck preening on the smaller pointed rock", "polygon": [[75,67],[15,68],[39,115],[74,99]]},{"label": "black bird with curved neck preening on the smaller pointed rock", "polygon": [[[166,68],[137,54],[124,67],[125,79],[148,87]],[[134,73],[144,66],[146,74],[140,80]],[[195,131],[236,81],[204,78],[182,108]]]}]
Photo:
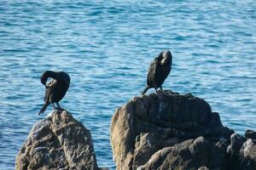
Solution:
[{"label": "black bird with curved neck preening on the smaller pointed rock", "polygon": [[[52,78],[52,80],[46,84],[49,77]],[[59,101],[61,101],[67,93],[70,77],[64,71],[44,71],[41,76],[41,83],[45,86],[44,106],[38,115],[43,114],[49,104],[52,104],[54,109],[55,103],[61,108]]]}]

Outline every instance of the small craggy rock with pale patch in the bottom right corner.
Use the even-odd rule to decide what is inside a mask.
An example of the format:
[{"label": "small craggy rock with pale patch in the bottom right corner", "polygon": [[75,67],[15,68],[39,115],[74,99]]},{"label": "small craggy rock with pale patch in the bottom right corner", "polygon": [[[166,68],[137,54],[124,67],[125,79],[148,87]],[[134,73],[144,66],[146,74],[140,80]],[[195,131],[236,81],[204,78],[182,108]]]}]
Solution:
[{"label": "small craggy rock with pale patch in the bottom right corner", "polygon": [[227,149],[229,153],[227,169],[256,169],[256,141],[246,139],[236,133],[231,135],[230,140],[231,144]]}]

